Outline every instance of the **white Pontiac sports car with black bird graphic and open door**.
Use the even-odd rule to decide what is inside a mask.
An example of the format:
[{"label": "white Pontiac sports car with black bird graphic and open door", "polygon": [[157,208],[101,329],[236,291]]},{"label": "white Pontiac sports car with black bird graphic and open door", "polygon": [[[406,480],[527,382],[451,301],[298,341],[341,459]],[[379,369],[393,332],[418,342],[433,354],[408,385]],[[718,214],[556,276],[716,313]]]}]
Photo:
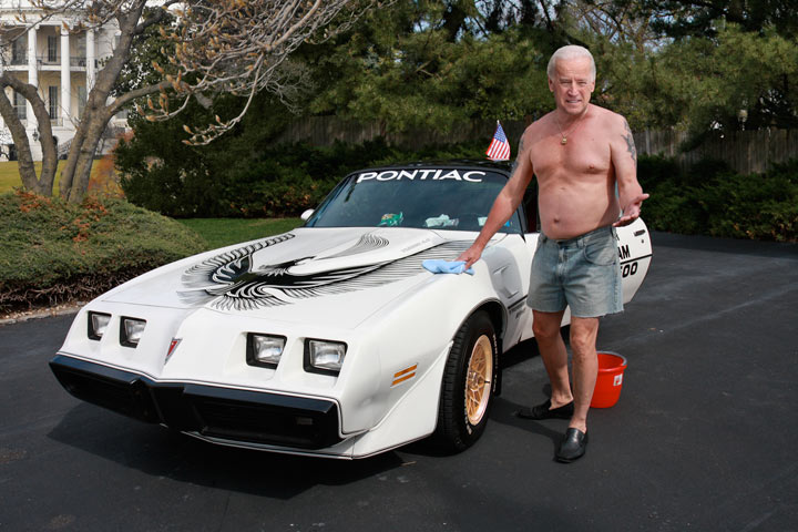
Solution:
[{"label": "white Pontiac sports car with black bird graphic and open door", "polygon": [[[364,458],[434,436],[466,449],[500,354],[532,336],[534,187],[473,275],[422,263],[469,247],[508,177],[495,163],[355,172],[303,227],[91,301],[50,366],[79,399],[213,443]],[[651,241],[641,219],[617,235],[628,301]]]}]

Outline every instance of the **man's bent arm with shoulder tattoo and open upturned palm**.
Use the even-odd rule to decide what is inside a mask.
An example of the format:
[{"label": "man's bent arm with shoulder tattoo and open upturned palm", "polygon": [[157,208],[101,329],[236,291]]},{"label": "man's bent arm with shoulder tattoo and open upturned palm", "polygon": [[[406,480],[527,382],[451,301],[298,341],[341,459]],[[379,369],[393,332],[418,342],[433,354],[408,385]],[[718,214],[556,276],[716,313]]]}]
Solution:
[{"label": "man's bent arm with shoulder tattoo and open upturned palm", "polygon": [[618,185],[618,202],[621,203],[621,217],[613,224],[615,227],[628,225],[640,217],[641,205],[648,197],[637,182],[637,150],[634,144],[632,130],[626,119],[620,116],[618,133],[613,134],[610,143],[615,180]]}]

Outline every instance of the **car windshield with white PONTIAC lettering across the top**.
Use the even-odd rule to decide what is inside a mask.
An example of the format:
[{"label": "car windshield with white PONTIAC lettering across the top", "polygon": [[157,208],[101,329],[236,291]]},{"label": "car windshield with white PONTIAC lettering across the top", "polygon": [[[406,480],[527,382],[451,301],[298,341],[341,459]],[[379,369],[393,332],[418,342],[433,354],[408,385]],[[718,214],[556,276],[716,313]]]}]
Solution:
[{"label": "car windshield with white PONTIAC lettering across the top", "polygon": [[[327,196],[306,226],[480,231],[505,184],[503,174],[487,170],[415,167],[358,172]],[[522,232],[518,212],[502,232]]]}]

